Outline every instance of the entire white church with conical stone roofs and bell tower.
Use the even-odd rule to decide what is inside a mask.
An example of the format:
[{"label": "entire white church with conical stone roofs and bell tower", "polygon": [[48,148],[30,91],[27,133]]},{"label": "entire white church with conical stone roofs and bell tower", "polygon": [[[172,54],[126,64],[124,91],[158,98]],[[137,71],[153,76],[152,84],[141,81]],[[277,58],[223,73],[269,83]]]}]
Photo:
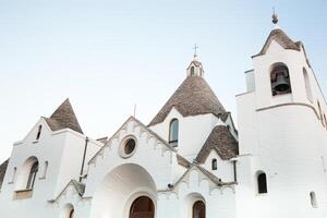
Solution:
[{"label": "entire white church with conical stone roofs and bell tower", "polygon": [[245,72],[238,130],[196,56],[148,124],[93,140],[66,99],[0,166],[0,217],[327,217],[327,105],[277,22]]}]

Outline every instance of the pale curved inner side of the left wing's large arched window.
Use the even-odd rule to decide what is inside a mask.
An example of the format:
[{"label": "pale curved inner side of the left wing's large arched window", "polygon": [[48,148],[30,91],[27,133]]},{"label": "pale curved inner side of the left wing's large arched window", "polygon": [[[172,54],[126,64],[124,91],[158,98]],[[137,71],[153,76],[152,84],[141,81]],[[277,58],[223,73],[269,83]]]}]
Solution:
[{"label": "pale curved inner side of the left wing's large arched window", "polygon": [[[26,190],[31,169],[36,162],[39,162],[37,157],[32,156],[28,157],[24,161],[24,164],[19,168],[15,190]],[[37,178],[35,178],[35,180]]]}]

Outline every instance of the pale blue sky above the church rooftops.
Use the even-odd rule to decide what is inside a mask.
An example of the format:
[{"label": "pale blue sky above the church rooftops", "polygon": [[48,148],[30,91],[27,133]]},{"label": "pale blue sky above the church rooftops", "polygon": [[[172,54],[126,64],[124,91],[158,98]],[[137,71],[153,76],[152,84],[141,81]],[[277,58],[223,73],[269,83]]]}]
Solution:
[{"label": "pale blue sky above the church rooftops", "polygon": [[237,120],[244,71],[272,28],[304,43],[327,92],[324,0],[0,0],[0,161],[70,98],[84,133],[147,124],[186,76],[198,45],[205,78]]}]

